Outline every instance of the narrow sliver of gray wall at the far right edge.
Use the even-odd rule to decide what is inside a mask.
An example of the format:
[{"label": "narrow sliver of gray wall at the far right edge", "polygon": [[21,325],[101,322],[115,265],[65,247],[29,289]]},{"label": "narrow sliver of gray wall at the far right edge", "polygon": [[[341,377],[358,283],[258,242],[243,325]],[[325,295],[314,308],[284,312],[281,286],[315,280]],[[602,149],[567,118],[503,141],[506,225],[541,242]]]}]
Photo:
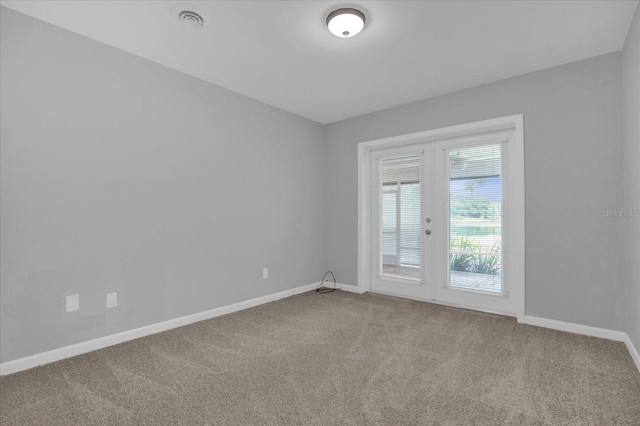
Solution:
[{"label": "narrow sliver of gray wall at the far right edge", "polygon": [[[624,200],[620,209],[640,209],[640,6],[622,52],[624,109]],[[640,350],[640,217],[623,217],[627,333]]]}]

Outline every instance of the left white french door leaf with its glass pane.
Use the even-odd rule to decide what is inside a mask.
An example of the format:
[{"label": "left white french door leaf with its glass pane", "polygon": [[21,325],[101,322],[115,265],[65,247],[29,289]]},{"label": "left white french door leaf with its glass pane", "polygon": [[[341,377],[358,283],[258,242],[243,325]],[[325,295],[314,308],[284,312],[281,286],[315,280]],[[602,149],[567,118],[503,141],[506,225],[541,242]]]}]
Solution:
[{"label": "left white french door leaf with its glass pane", "polygon": [[435,296],[432,147],[415,144],[371,153],[371,290],[415,299]]}]

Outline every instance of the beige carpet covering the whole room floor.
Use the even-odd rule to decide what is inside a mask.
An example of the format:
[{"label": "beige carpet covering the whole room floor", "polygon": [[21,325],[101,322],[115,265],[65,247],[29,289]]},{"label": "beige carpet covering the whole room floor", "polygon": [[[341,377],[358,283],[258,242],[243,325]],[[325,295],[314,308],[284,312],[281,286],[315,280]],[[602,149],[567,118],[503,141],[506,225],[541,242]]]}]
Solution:
[{"label": "beige carpet covering the whole room floor", "polygon": [[639,425],[624,344],[309,292],[0,378],[9,425]]}]

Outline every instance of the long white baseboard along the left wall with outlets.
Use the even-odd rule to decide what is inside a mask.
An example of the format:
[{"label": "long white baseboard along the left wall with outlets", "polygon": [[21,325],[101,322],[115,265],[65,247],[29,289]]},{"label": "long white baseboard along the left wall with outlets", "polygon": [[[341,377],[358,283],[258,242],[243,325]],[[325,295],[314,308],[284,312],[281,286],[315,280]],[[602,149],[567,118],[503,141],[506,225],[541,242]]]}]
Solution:
[{"label": "long white baseboard along the left wall with outlets", "polygon": [[301,287],[292,288],[290,290],[281,291],[279,293],[268,294],[266,296],[234,303],[232,305],[221,306],[219,308],[199,312],[197,314],[187,315],[184,317],[159,322],[157,324],[151,324],[133,330],[123,331],[121,333],[112,334],[110,336],[99,337],[97,339],[88,340],[86,342],[76,343],[74,345],[65,346],[63,348],[41,352],[39,354],[30,355],[24,358],[3,362],[0,364],[0,376],[17,373],[18,371],[28,370],[29,368],[49,364],[54,361],[60,361],[72,356],[82,355],[84,353],[102,349],[107,346],[112,346],[140,337],[149,336],[151,334],[160,333],[161,331],[171,330],[173,328],[182,327],[185,325],[193,324],[195,322],[219,317],[221,315],[230,314],[232,312],[241,311],[247,308],[252,308],[264,303],[284,299],[285,297],[290,297],[296,294],[314,290],[318,286],[318,284],[320,283],[318,282],[307,284]]}]

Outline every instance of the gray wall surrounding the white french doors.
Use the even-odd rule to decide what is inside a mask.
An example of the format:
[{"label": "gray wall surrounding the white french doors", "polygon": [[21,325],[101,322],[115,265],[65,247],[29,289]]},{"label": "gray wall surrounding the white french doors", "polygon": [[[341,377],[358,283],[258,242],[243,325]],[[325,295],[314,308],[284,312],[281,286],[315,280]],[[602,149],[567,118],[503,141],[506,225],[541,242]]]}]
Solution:
[{"label": "gray wall surrounding the white french doors", "polygon": [[327,259],[357,284],[358,142],[524,114],[526,313],[621,330],[621,54],[329,124]]}]

